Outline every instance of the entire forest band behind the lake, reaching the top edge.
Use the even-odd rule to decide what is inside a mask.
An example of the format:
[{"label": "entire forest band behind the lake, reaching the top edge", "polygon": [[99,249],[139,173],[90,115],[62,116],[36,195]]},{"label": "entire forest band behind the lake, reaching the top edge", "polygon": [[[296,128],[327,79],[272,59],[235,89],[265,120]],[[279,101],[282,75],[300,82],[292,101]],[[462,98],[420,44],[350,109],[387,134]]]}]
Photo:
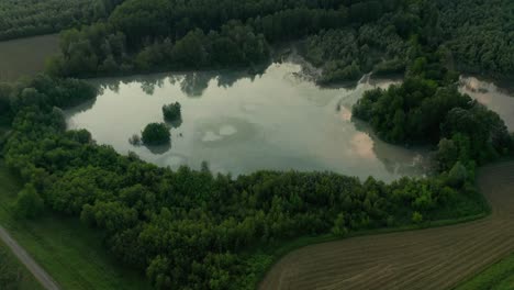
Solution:
[{"label": "entire forest band behind the lake, reaching the top edge", "polygon": [[268,60],[276,44],[295,42],[323,69],[321,83],[402,74],[420,47],[461,71],[505,76],[514,71],[513,4],[495,2],[130,0],[105,21],[63,32],[48,71],[248,67]]}]

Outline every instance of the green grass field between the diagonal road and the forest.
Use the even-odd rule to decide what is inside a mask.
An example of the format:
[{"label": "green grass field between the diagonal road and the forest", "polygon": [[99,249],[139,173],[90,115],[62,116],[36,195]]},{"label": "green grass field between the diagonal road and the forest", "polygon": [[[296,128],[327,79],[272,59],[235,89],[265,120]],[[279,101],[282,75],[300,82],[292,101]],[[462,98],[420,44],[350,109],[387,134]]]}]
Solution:
[{"label": "green grass field between the diagonal road and the forest", "polygon": [[63,289],[148,289],[143,275],[120,268],[102,238],[77,219],[46,213],[35,221],[13,219],[11,204],[20,190],[0,160],[0,224]]}]

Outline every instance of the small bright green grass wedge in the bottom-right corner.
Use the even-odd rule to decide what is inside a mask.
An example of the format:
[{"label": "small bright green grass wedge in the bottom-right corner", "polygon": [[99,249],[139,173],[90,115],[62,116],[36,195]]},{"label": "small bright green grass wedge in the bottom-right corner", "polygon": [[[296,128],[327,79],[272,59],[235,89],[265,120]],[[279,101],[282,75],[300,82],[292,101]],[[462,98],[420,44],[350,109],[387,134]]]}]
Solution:
[{"label": "small bright green grass wedge in the bottom-right corner", "polygon": [[514,289],[514,254],[492,265],[455,290],[511,290]]}]

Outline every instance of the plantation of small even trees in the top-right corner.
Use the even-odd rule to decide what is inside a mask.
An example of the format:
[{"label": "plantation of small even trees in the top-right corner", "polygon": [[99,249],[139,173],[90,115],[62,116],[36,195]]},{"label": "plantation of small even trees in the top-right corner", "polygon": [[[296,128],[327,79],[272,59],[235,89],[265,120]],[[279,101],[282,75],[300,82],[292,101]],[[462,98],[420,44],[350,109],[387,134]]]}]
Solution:
[{"label": "plantation of small even trees in the top-right corner", "polygon": [[514,75],[514,2],[437,1],[440,26],[460,70],[507,78]]}]

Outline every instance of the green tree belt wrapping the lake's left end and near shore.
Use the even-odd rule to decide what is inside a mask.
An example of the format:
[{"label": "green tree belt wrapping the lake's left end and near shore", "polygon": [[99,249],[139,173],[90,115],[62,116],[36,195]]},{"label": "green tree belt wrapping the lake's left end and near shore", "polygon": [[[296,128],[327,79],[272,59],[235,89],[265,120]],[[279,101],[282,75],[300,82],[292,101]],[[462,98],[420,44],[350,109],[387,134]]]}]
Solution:
[{"label": "green tree belt wrapping the lake's left end and near shore", "polygon": [[[44,203],[80,217],[157,289],[253,289],[272,261],[258,250],[267,245],[484,211],[473,177],[461,168],[391,185],[332,172],[259,171],[234,179],[212,175],[206,165],[200,171],[159,168],[96,145],[87,131],[65,131],[56,105],[94,94],[82,81],[45,76],[11,86],[14,118],[3,153],[26,181],[16,212],[34,213]],[[63,101],[69,96],[75,99]]]}]

